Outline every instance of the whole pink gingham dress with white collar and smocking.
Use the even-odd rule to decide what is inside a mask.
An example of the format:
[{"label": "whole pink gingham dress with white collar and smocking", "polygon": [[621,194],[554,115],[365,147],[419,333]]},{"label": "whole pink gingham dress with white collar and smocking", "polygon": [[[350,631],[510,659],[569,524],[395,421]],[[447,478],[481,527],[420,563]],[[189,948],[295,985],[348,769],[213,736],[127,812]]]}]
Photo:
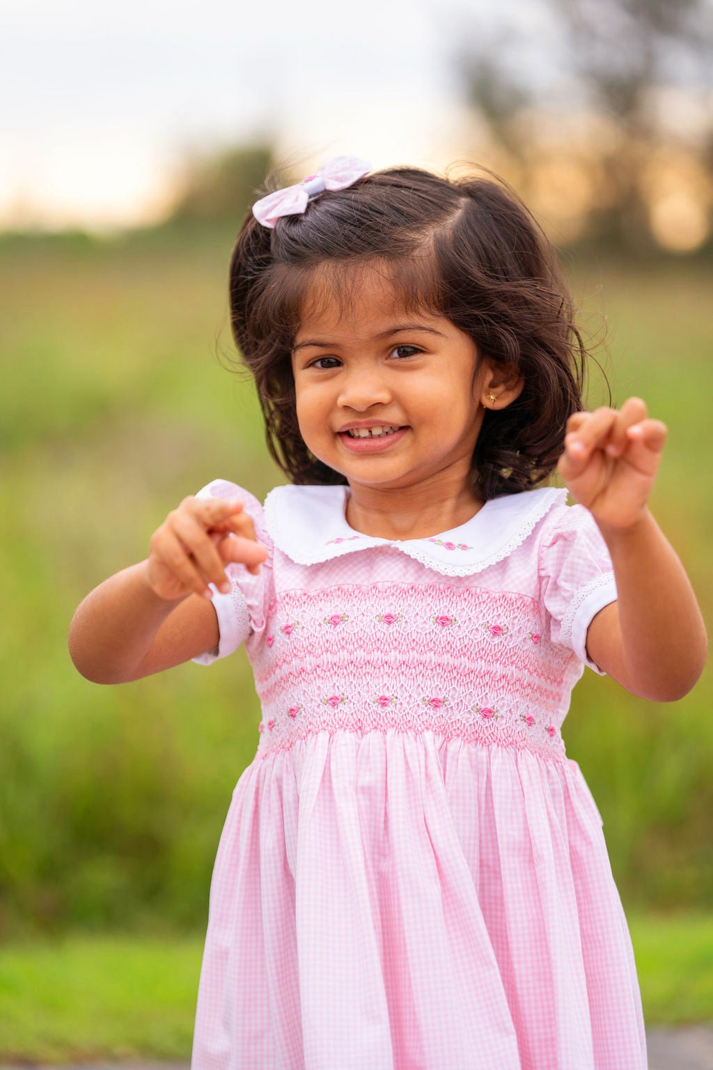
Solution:
[{"label": "whole pink gingham dress with white collar and smocking", "polygon": [[[257,754],[218,846],[192,1070],[645,1070],[602,819],[561,724],[617,597],[553,488],[433,538],[353,531],[347,487],[238,495],[229,567]],[[239,697],[238,697],[239,700]]]}]

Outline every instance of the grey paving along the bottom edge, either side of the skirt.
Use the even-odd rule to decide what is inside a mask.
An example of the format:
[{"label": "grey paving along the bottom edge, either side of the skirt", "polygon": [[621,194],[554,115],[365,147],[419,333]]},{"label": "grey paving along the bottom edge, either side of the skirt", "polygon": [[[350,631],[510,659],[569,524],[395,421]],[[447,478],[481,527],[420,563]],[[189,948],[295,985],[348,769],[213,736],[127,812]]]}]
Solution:
[{"label": "grey paving along the bottom edge, either side of the skirt", "polygon": [[[649,1070],[713,1070],[713,1025],[647,1029]],[[0,1070],[28,1070],[0,1065]],[[36,1070],[188,1070],[187,1063],[83,1063],[79,1067],[37,1067]],[[255,1067],[255,1070],[259,1070]],[[260,1068],[267,1070],[267,1068]],[[576,1070],[576,1068],[572,1068]],[[621,1070],[626,1070],[622,1067]]]}]

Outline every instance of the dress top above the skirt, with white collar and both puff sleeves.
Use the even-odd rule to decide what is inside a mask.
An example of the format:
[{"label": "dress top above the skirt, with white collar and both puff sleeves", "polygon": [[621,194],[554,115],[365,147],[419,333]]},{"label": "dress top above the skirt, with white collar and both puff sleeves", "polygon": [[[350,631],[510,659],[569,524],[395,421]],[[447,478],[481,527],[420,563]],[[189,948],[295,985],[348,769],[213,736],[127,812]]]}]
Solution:
[{"label": "dress top above the skirt, with white collar and both puff sleeves", "polygon": [[[339,729],[524,748],[561,761],[586,629],[616,598],[591,516],[544,489],[487,502],[461,528],[389,541],[352,531],[343,487],[233,484],[269,549],[216,593],[224,656],[245,641],[262,705],[259,756]],[[202,492],[203,493],[203,492]]]}]

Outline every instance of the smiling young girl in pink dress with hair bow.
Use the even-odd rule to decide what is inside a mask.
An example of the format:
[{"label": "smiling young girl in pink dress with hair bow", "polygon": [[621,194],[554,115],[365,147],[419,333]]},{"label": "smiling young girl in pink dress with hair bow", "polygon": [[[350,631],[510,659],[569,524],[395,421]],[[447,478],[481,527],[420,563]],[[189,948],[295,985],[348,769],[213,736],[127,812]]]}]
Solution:
[{"label": "smiling young girl in pink dress with hair bow", "polygon": [[[338,158],[231,263],[273,456],[93,591],[99,683],[245,643],[262,702],[211,886],[193,1070],[640,1070],[602,819],[560,734],[589,666],[681,698],[706,636],[647,508],[665,426],[582,410],[555,259],[483,178]],[[568,490],[539,487],[558,467]],[[239,696],[237,697],[239,701]]]}]

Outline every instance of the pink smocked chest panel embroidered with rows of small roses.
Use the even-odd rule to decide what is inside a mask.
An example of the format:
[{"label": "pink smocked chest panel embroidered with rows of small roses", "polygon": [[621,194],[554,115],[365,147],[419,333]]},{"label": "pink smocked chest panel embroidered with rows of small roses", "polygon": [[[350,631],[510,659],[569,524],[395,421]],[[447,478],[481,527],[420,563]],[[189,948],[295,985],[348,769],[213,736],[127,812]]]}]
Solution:
[{"label": "pink smocked chest panel embroidered with rows of small roses", "polygon": [[404,580],[285,591],[252,645],[259,754],[323,729],[393,728],[562,759],[582,670],[548,632],[512,592]]}]

